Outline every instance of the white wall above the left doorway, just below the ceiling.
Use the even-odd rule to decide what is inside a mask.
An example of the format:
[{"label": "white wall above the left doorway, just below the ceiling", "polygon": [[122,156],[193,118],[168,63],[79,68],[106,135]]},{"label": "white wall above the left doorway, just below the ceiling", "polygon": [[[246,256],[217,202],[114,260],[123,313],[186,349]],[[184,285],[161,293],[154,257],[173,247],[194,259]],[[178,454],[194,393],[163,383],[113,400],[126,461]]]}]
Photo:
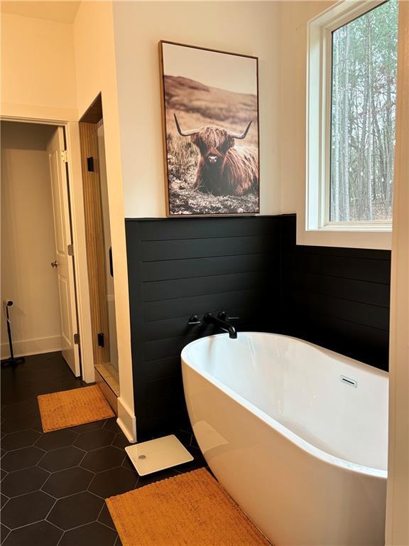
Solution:
[{"label": "white wall above the left doorway, just below the ceiling", "polygon": [[1,114],[76,119],[72,25],[1,14]]}]

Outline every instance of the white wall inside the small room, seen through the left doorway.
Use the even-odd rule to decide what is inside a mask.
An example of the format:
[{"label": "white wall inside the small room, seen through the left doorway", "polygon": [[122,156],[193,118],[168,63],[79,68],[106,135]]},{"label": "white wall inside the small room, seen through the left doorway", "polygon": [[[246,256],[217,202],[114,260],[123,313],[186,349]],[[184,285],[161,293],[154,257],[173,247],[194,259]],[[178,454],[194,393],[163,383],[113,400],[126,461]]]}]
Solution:
[{"label": "white wall inside the small room, seen through the left doorway", "polygon": [[[11,299],[14,352],[61,348],[53,204],[45,146],[53,127],[1,124],[1,301]],[[1,356],[9,355],[1,309]]]}]

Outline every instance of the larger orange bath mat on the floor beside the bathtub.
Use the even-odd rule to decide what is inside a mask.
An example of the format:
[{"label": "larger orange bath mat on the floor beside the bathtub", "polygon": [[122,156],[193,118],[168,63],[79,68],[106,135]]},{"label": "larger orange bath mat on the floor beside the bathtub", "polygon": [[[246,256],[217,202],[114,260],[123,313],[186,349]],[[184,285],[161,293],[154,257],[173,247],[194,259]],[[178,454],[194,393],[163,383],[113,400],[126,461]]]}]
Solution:
[{"label": "larger orange bath mat on the floor beside the bathtub", "polygon": [[106,503],[123,546],[268,546],[205,469],[167,478]]}]

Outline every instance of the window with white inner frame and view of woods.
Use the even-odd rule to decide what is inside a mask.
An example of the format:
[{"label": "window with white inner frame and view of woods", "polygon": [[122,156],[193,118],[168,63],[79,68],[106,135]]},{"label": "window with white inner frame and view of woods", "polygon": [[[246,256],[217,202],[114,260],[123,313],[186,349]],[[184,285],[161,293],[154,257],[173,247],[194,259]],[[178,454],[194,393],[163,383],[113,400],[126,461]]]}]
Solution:
[{"label": "window with white inner frame and view of woods", "polygon": [[307,229],[390,230],[398,1],[342,2],[309,30]]}]

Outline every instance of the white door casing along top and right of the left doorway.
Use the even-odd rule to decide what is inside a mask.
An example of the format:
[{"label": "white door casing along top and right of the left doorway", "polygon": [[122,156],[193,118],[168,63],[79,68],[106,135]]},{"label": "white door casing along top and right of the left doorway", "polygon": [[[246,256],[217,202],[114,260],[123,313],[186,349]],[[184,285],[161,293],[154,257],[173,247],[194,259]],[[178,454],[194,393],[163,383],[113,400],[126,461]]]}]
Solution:
[{"label": "white door casing along top and right of the left doorway", "polygon": [[4,122],[55,125],[62,127],[67,149],[68,187],[72,223],[72,245],[74,245],[74,272],[77,294],[78,328],[80,333],[80,358],[82,380],[95,381],[94,353],[92,350],[91,311],[87,271],[87,249],[84,228],[84,197],[82,193],[82,169],[80,151],[80,127],[78,122],[65,119],[0,116]]}]

